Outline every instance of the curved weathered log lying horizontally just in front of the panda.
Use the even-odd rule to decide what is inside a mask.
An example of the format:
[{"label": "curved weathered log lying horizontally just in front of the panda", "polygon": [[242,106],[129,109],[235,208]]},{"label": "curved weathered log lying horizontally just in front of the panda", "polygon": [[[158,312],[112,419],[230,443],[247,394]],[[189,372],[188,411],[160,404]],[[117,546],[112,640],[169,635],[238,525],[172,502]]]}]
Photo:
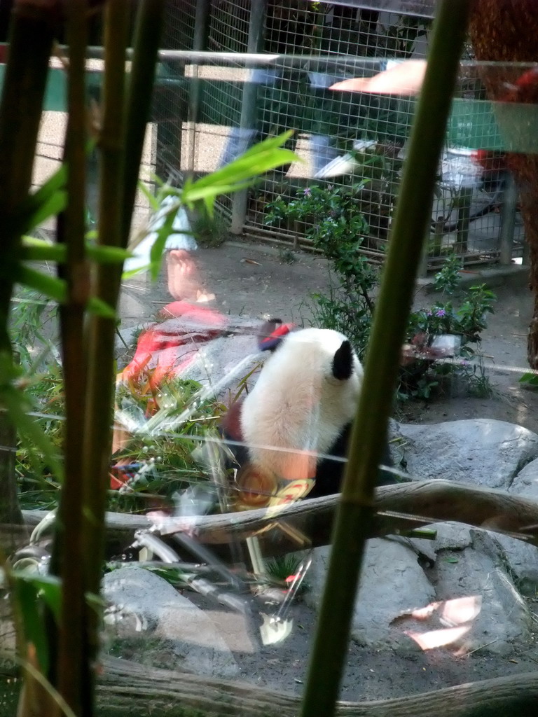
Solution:
[{"label": "curved weathered log lying horizontally just in front of the panda", "polygon": [[[331,542],[331,528],[338,495],[303,500],[285,506],[278,514],[263,509],[242,513],[223,513],[200,516],[196,536],[215,549],[230,541],[241,541],[260,531],[264,556],[282,555],[305,547],[291,536],[307,536],[309,545],[321,546]],[[439,521],[458,521],[477,528],[511,533],[514,537],[538,544],[538,501],[507,493],[505,490],[478,488],[450,480],[424,480],[389,485],[377,489],[377,516],[372,535],[395,534],[402,529],[420,527]],[[36,525],[43,511],[24,511],[28,525]],[[129,541],[134,531],[148,528],[145,516],[107,513],[108,531],[118,539]],[[181,529],[181,521],[164,521],[165,531],[174,526]],[[268,528],[272,526],[272,530]],[[283,526],[280,528],[279,526]]]}]

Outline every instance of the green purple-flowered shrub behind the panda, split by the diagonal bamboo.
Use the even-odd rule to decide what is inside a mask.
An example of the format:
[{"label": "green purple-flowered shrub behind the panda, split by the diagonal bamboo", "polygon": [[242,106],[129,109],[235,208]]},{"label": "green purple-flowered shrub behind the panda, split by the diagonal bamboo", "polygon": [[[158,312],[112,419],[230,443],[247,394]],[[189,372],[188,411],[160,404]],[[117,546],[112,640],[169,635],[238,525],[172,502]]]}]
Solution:
[{"label": "green purple-flowered shrub behind the panda, split by the diagonal bamboo", "polygon": [[[314,185],[288,204],[278,197],[269,205],[266,223],[304,223],[305,236],[330,260],[336,277],[329,293],[313,295],[314,323],[345,333],[362,359],[374,316],[379,269],[359,252],[369,227],[354,201],[357,189]],[[440,299],[410,314],[399,399],[430,399],[451,376],[460,376],[470,394],[491,395],[479,347],[496,297],[482,284],[463,290],[459,305],[453,303],[452,296],[461,285],[461,268],[461,259],[448,255],[433,277]]]}]

